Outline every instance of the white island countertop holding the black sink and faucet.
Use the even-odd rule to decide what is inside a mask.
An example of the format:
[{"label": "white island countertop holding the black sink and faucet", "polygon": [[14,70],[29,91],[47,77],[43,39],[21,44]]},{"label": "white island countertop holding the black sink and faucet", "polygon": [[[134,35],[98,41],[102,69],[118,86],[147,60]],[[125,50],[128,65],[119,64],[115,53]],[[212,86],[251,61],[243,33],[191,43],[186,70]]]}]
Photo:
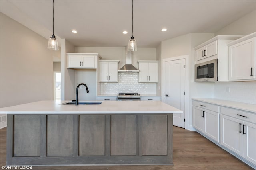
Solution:
[{"label": "white island countertop holding the black sink and faucet", "polygon": [[169,114],[181,110],[160,101],[79,101],[99,105],[62,105],[70,101],[39,101],[0,109],[1,114]]}]

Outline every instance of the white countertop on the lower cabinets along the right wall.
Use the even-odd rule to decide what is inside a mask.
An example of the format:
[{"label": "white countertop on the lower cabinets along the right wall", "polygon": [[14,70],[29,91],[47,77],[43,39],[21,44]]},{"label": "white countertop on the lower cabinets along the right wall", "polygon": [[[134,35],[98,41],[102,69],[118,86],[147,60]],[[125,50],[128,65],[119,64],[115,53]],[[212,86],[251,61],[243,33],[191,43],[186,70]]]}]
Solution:
[{"label": "white countertop on the lower cabinets along the right wall", "polygon": [[214,99],[214,98],[192,98],[192,100],[197,100],[200,102],[207,102],[210,104],[216,104],[216,105],[225,106],[225,107],[232,107],[234,109],[240,109],[240,110],[256,113],[256,105],[255,104],[234,102],[234,101]]}]

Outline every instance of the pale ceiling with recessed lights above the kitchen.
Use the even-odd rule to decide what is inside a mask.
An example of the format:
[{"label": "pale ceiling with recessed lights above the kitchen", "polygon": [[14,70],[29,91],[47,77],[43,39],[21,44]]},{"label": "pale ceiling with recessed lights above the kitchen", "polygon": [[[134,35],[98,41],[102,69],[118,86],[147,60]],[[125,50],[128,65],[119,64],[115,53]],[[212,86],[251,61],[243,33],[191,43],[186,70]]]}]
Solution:
[{"label": "pale ceiling with recessed lights above the kitchen", "polygon": [[[54,6],[58,39],[76,47],[128,45],[132,0],[55,0]],[[2,13],[47,39],[52,35],[52,8],[52,0],[0,0]],[[133,35],[138,47],[157,47],[187,33],[214,33],[255,9],[256,0],[134,0]]]}]

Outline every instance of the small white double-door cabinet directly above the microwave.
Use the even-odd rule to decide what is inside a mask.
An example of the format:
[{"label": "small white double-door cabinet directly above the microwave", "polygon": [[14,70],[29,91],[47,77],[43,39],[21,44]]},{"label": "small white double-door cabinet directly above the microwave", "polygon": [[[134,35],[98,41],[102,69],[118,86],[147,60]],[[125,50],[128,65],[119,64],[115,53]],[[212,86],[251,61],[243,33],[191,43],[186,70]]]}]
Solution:
[{"label": "small white double-door cabinet directly above the microwave", "polygon": [[217,41],[213,41],[205,45],[204,47],[200,47],[196,49],[196,61],[204,59],[206,57],[210,57],[217,54]]}]

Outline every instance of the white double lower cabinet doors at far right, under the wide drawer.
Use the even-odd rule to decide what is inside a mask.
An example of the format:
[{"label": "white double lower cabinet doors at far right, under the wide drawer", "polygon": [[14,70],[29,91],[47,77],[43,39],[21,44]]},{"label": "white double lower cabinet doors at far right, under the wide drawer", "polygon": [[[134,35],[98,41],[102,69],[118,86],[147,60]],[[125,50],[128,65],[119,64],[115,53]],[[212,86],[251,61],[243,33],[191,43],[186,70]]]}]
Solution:
[{"label": "white double lower cabinet doors at far right, under the wide drawer", "polygon": [[220,115],[220,144],[256,165],[256,124]]}]

